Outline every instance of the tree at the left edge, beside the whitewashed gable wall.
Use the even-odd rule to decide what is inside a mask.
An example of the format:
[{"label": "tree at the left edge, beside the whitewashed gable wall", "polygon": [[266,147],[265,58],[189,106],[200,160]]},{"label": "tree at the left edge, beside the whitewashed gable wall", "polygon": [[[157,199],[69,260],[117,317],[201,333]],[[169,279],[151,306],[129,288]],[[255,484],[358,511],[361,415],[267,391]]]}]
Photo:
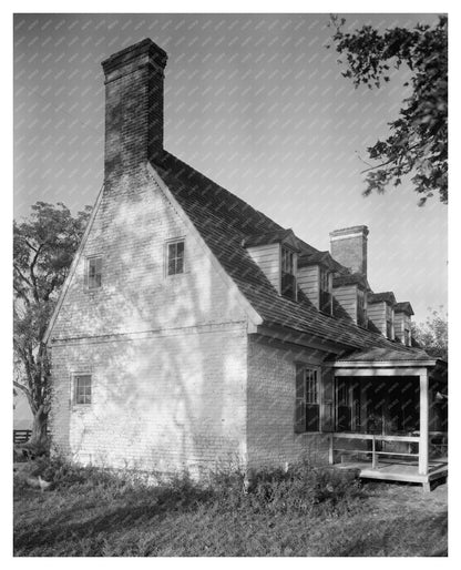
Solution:
[{"label": "tree at the left edge, beside the whitewashed gable wall", "polygon": [[37,202],[29,218],[13,222],[13,386],[33,414],[31,445],[47,436],[50,362],[42,338],[53,313],[91,206],[76,217],[59,203]]}]

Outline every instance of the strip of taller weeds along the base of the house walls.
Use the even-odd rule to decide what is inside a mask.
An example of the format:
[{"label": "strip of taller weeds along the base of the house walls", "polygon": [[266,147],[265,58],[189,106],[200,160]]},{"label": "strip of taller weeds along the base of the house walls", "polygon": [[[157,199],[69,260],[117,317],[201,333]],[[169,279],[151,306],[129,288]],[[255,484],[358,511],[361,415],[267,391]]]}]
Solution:
[{"label": "strip of taller weeds along the base of the house walls", "polygon": [[30,475],[40,475],[55,489],[93,488],[107,498],[148,493],[157,509],[164,511],[185,511],[206,505],[230,511],[244,508],[273,515],[339,516],[357,510],[360,505],[360,487],[354,475],[313,468],[308,462],[288,470],[272,468],[247,475],[238,469],[221,469],[202,481],[193,480],[187,472],[176,474],[150,486],[141,476],[126,470],[81,467],[61,457],[43,457],[33,462]]}]

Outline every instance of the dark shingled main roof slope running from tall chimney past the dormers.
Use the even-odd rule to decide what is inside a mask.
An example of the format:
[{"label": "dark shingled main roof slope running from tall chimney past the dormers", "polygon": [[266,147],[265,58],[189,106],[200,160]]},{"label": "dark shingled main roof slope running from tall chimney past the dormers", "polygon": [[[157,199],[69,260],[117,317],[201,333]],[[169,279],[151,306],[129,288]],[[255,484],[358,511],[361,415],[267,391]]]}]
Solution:
[{"label": "dark shingled main roof slope running from tall chimney past the dormers", "polygon": [[[244,243],[249,236],[281,234],[286,230],[166,151],[152,166],[265,325],[286,327],[351,349],[381,347],[406,353],[409,358],[417,354],[429,358],[423,350],[398,345],[352,322],[324,315],[309,303],[278,295]],[[297,242],[300,255],[320,255],[309,244],[299,238]]]}]

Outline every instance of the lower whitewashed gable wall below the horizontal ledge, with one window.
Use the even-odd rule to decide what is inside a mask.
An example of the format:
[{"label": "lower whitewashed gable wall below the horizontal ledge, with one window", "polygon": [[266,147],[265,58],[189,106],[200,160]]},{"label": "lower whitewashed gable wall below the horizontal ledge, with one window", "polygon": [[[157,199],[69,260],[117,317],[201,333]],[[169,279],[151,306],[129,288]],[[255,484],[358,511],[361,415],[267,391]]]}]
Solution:
[{"label": "lower whitewashed gable wall below the horizontal ledge, with one window", "polygon": [[[55,445],[80,462],[192,472],[246,452],[246,328],[53,347]],[[72,375],[92,375],[92,404]]]}]

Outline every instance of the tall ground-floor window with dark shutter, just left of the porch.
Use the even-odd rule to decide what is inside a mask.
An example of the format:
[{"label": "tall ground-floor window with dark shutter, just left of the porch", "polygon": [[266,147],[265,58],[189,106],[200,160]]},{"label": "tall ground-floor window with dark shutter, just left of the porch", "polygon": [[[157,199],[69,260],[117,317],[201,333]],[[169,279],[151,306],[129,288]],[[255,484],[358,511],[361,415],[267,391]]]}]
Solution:
[{"label": "tall ground-floor window with dark shutter, just left of the porch", "polygon": [[298,365],[296,370],[296,418],[295,431],[320,430],[320,396],[318,371]]}]

